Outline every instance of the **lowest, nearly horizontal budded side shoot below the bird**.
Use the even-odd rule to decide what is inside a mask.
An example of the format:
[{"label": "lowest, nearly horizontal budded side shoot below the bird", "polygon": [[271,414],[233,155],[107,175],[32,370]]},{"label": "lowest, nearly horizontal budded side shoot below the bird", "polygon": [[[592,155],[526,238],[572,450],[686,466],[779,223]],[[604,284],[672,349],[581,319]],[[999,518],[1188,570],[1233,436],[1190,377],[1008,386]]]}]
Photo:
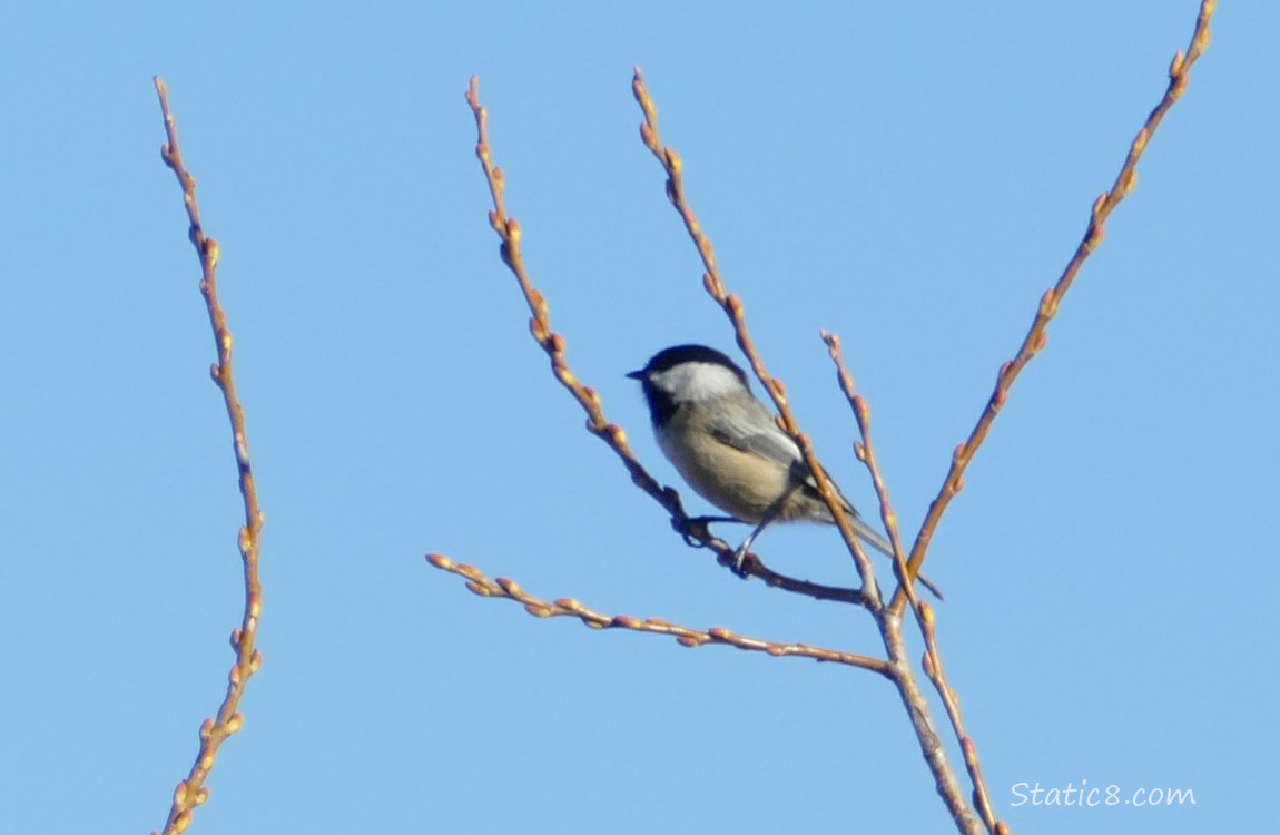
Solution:
[{"label": "lowest, nearly horizontal budded side shoot below the bird", "polygon": [[576,617],[591,629],[630,629],[637,633],[653,635],[669,635],[682,647],[701,647],[703,644],[726,644],[751,652],[763,652],[774,657],[813,658],[829,663],[842,663],[851,667],[861,667],[883,676],[890,675],[890,665],[882,658],[859,656],[852,652],[838,649],[824,649],[810,647],[809,644],[783,644],[760,638],[748,638],[739,635],[723,626],[710,629],[692,629],[669,621],[649,617],[641,620],[630,615],[603,615],[582,606],[572,598],[558,598],[544,601],[529,594],[520,584],[507,578],[490,580],[475,566],[458,563],[439,553],[426,555],[426,561],[442,571],[456,574],[467,581],[467,589],[481,597],[495,597],[515,601],[525,607],[525,611],[534,617]]}]

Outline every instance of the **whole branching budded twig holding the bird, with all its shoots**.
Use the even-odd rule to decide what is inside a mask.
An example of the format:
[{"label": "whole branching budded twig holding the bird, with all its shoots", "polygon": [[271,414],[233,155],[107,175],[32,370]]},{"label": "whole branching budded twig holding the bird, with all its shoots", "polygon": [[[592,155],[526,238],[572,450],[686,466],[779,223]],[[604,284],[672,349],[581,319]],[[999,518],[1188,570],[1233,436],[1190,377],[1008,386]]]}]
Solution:
[{"label": "whole branching budded twig holding the bird, with all its shoots", "polygon": [[[558,599],[554,602],[547,602],[525,593],[520,587],[504,579],[489,580],[484,574],[472,569],[470,566],[461,566],[453,563],[447,557],[439,555],[431,555],[428,558],[431,565],[452,571],[468,580],[468,588],[483,596],[489,597],[504,597],[512,601],[517,601],[525,604],[525,608],[540,617],[553,617],[553,616],[575,616],[582,620],[584,624],[598,628],[622,628],[632,629],[636,631],[648,631],[655,634],[675,635],[685,645],[700,645],[708,642],[728,643],[744,649],[755,649],[769,652],[773,654],[799,654],[804,657],[814,657],[824,661],[838,661],[841,663],[849,663],[851,666],[858,666],[868,670],[879,672],[881,675],[890,679],[899,690],[902,699],[904,707],[911,720],[913,727],[915,729],[916,738],[920,744],[922,754],[929,766],[931,772],[934,776],[936,786],[938,794],[942,797],[947,806],[948,812],[956,822],[956,826],[964,832],[978,832],[983,826],[992,832],[1006,832],[1007,826],[1002,821],[997,821],[991,806],[991,799],[987,791],[986,782],[982,776],[982,768],[977,756],[977,747],[965,731],[963,717],[959,709],[959,702],[955,693],[952,692],[950,684],[946,680],[941,653],[937,645],[937,638],[934,634],[934,615],[932,607],[928,603],[920,602],[915,597],[914,580],[923,579],[919,578],[920,565],[924,560],[924,555],[928,549],[929,540],[937,526],[942,512],[946,510],[951,497],[955,496],[963,488],[964,470],[969,461],[973,458],[974,452],[982,444],[987,433],[989,432],[991,423],[995,415],[1000,411],[1007,397],[1009,387],[1016,379],[1021,369],[1030,361],[1036,353],[1043,348],[1046,341],[1046,329],[1048,321],[1053,318],[1057,311],[1057,306],[1062,297],[1068,292],[1074,280],[1076,273],[1079,272],[1082,264],[1088,257],[1088,255],[1097,247],[1102,239],[1103,224],[1110,216],[1111,211],[1116,205],[1132,191],[1135,182],[1135,166],[1138,159],[1140,158],[1151,134],[1155,132],[1165,113],[1172,106],[1172,102],[1178,100],[1181,92],[1185,90],[1187,79],[1189,77],[1190,65],[1199,58],[1206,44],[1208,42],[1208,22],[1213,13],[1215,3],[1213,0],[1203,0],[1199,9],[1199,17],[1196,23],[1196,31],[1192,36],[1190,46],[1187,54],[1179,53],[1170,68],[1170,82],[1169,88],[1165,92],[1161,102],[1152,110],[1148,115],[1146,124],[1138,136],[1130,145],[1129,154],[1121,166],[1120,174],[1116,178],[1115,184],[1108,192],[1105,192],[1093,205],[1093,211],[1091,215],[1091,222],[1088,231],[1084,234],[1080,245],[1076,247],[1076,252],[1071,261],[1068,264],[1062,275],[1059,278],[1057,283],[1044,293],[1041,300],[1041,306],[1037,312],[1034,321],[1023,341],[1015,357],[1006,362],[1000,371],[997,379],[996,389],[992,393],[983,415],[974,426],[968,441],[956,448],[952,457],[951,469],[947,474],[943,487],[938,493],[938,497],[931,503],[929,512],[922,524],[920,531],[916,535],[915,543],[913,544],[910,556],[908,557],[904,551],[900,531],[897,528],[897,517],[893,511],[892,503],[890,502],[888,488],[884,483],[883,476],[879,473],[879,465],[876,458],[874,447],[872,444],[870,434],[870,411],[867,402],[855,393],[852,378],[844,365],[840,355],[840,342],[838,338],[827,333],[823,333],[823,338],[827,342],[828,352],[832,361],[836,364],[837,377],[845,396],[847,397],[850,406],[854,410],[855,419],[859,425],[859,432],[861,441],[855,444],[855,451],[858,457],[864,462],[870,474],[872,482],[876,487],[877,496],[881,505],[881,519],[884,523],[884,528],[888,531],[890,542],[893,551],[893,563],[895,571],[899,578],[899,587],[893,593],[892,603],[890,606],[883,606],[876,588],[874,574],[870,561],[867,558],[865,552],[861,549],[858,538],[854,535],[852,529],[847,524],[844,512],[841,511],[840,502],[837,498],[837,492],[831,484],[826,475],[826,471],[817,461],[814,456],[812,444],[808,437],[800,430],[794,414],[790,410],[786,398],[786,391],[781,383],[772,378],[765,369],[759,353],[755,351],[754,343],[746,329],[746,321],[744,315],[744,307],[741,300],[728,293],[724,289],[723,280],[719,275],[719,270],[716,265],[714,251],[709,238],[703,234],[700,223],[689,202],[685,197],[684,190],[684,175],[682,175],[682,161],[675,150],[664,146],[658,134],[657,124],[657,108],[649,96],[648,90],[644,86],[644,79],[640,69],[636,68],[632,79],[632,91],[635,93],[636,101],[640,104],[644,111],[644,124],[641,124],[640,133],[646,147],[654,154],[658,161],[662,164],[667,173],[667,196],[672,205],[676,207],[681,219],[685,223],[685,228],[692,238],[695,246],[698,247],[699,255],[703,260],[703,266],[705,269],[703,274],[703,286],[707,292],[721,305],[724,314],[728,316],[733,325],[733,330],[737,338],[737,345],[742,350],[744,355],[748,357],[753,371],[759,378],[764,389],[768,392],[769,397],[773,400],[774,406],[778,410],[778,424],[787,432],[792,439],[799,444],[805,462],[814,474],[818,483],[819,492],[822,493],[824,501],[833,519],[840,525],[841,534],[849,546],[850,553],[858,566],[858,571],[863,580],[863,594],[864,597],[859,601],[873,616],[876,624],[879,629],[881,636],[884,642],[884,648],[887,651],[887,660],[870,658],[867,656],[854,656],[851,653],[840,653],[831,649],[815,649],[803,644],[776,644],[767,640],[746,639],[723,629],[713,630],[695,630],[685,626],[676,626],[660,620],[645,620],[627,617],[627,616],[608,616],[599,612],[588,610],[577,601],[572,599]],[[694,520],[690,520],[684,508],[680,505],[678,497],[671,488],[660,488],[657,482],[654,482],[639,462],[635,461],[630,452],[630,447],[626,444],[626,438],[622,435],[621,430],[604,420],[603,414],[599,410],[599,397],[590,388],[581,387],[568,366],[563,361],[563,339],[550,330],[549,321],[547,319],[547,306],[541,295],[532,288],[529,283],[524,265],[520,257],[520,228],[513,219],[507,218],[503,205],[502,205],[502,188],[503,179],[502,172],[494,168],[489,160],[489,149],[485,138],[485,113],[480,108],[476,100],[476,82],[472,79],[471,90],[467,93],[467,100],[471,102],[472,110],[476,114],[476,123],[479,127],[480,141],[476,149],[477,156],[485,168],[485,175],[489,182],[490,191],[494,197],[494,211],[490,213],[490,224],[498,232],[503,241],[502,255],[503,260],[516,274],[521,288],[525,292],[525,297],[529,301],[530,309],[534,312],[534,319],[531,324],[531,330],[534,337],[539,341],[543,348],[548,352],[552,360],[552,366],[556,371],[557,379],[561,380],[570,391],[575,394],[579,402],[588,411],[588,428],[600,435],[614,451],[623,458],[627,464],[628,470],[632,474],[632,479],[649,492],[654,498],[663,503],[664,507],[672,514],[673,524],[676,524],[677,530],[681,530],[686,537],[692,537],[701,544],[710,544],[716,547],[717,553],[723,562],[727,558],[727,546],[719,540],[714,540],[705,531],[705,526],[694,525]],[[751,563],[749,565],[756,565]],[[913,672],[911,665],[909,663],[906,654],[906,645],[902,638],[901,629],[901,608],[910,602],[913,604],[913,615],[916,619],[916,624],[920,628],[924,643],[924,671],[928,679],[932,681],[937,689],[940,698],[945,706],[947,716],[951,721],[951,726],[955,730],[956,739],[961,748],[961,754],[965,761],[965,767],[969,772],[969,777],[973,782],[973,804],[980,816],[980,822],[978,817],[974,816],[973,809],[969,808],[965,802],[964,794],[952,774],[951,767],[946,759],[945,747],[938,738],[938,734],[933,729],[932,720],[929,717],[929,706],[925,701],[919,683]]]}]

